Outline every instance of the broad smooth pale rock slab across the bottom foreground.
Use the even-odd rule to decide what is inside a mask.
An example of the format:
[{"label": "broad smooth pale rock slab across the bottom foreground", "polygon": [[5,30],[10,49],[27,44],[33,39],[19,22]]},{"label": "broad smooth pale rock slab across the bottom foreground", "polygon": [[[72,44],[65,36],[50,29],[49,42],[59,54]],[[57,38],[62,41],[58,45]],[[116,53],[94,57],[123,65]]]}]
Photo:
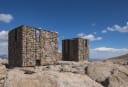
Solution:
[{"label": "broad smooth pale rock slab across the bottom foreground", "polygon": [[11,70],[4,87],[103,87],[86,75],[69,72],[43,71],[24,74]]}]

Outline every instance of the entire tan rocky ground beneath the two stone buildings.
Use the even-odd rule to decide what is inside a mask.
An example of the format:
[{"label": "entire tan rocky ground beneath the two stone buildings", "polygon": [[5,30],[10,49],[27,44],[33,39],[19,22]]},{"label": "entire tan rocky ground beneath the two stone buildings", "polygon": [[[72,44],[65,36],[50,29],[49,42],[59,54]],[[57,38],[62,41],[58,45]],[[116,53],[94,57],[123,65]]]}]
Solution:
[{"label": "entire tan rocky ground beneath the two stone buildings", "polygon": [[0,59],[0,87],[128,87],[128,68],[113,61],[58,61],[11,69],[6,63]]}]

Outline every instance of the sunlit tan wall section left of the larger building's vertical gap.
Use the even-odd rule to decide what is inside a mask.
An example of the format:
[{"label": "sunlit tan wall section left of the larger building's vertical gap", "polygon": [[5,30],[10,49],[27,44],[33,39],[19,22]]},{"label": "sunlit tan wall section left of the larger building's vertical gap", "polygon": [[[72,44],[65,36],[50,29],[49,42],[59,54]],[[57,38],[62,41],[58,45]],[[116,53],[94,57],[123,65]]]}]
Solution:
[{"label": "sunlit tan wall section left of the larger building's vertical gap", "polygon": [[35,43],[35,29],[22,27],[22,59],[23,66],[35,65],[35,52],[33,50]]}]

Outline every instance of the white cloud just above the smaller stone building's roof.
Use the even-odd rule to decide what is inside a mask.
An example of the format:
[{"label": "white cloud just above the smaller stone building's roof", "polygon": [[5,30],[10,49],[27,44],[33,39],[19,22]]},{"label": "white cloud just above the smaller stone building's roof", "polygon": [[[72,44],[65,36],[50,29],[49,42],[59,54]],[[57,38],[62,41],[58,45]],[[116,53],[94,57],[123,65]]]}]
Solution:
[{"label": "white cloud just above the smaller stone building's roof", "polygon": [[96,37],[93,34],[86,35],[84,33],[79,33],[79,34],[77,34],[77,36],[80,37],[80,38],[83,38],[83,39],[89,39],[90,41],[96,41],[96,40],[101,40],[102,39],[102,37]]}]

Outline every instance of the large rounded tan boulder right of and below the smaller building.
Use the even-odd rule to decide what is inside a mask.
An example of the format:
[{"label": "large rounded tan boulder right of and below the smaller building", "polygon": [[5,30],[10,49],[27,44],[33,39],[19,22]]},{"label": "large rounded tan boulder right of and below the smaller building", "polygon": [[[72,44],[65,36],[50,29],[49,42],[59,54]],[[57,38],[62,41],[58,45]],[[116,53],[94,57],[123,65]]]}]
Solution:
[{"label": "large rounded tan boulder right of and below the smaller building", "polygon": [[90,63],[87,68],[87,74],[98,82],[105,81],[106,78],[111,76],[113,66],[102,62]]}]

